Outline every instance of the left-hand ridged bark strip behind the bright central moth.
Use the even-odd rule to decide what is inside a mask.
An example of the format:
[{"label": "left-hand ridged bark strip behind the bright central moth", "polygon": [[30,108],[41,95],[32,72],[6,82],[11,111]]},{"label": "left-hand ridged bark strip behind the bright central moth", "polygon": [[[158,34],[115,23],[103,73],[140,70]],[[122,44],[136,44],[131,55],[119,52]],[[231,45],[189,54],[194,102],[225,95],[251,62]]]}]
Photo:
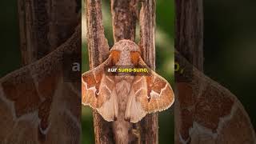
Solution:
[{"label": "left-hand ridged bark strip behind the bright central moth", "polygon": [[[90,69],[100,65],[109,54],[102,25],[101,0],[86,0],[87,42]],[[94,110],[94,137],[97,144],[114,143],[111,122],[106,122]]]}]

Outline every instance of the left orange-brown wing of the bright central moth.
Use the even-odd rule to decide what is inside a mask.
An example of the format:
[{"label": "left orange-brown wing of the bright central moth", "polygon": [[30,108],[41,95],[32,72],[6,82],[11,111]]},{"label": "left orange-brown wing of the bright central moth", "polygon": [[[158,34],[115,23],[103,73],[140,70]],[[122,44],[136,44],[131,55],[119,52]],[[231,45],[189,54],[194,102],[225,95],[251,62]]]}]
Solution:
[{"label": "left orange-brown wing of the bright central moth", "polygon": [[108,122],[114,121],[118,114],[114,77],[104,72],[105,67],[111,64],[111,58],[108,58],[82,74],[82,104],[97,110]]}]

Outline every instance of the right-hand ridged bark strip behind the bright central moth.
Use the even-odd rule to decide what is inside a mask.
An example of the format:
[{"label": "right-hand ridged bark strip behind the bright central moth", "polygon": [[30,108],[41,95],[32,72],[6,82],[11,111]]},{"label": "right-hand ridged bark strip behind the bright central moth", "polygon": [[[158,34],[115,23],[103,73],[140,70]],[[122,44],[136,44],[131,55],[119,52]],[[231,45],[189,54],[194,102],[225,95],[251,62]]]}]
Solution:
[{"label": "right-hand ridged bark strip behind the bright central moth", "polygon": [[[155,70],[155,0],[145,0],[142,2],[140,11],[141,38],[140,47],[142,58],[147,66]],[[158,143],[158,114],[148,114],[140,122],[141,143]]]}]

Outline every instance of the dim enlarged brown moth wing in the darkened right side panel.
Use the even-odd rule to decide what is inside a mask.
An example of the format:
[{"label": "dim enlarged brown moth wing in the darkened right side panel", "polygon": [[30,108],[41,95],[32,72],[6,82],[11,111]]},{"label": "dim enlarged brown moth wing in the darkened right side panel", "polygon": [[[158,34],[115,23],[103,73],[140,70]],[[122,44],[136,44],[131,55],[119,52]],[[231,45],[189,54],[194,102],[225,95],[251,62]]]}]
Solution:
[{"label": "dim enlarged brown moth wing in the darkened right side panel", "polygon": [[186,69],[183,79],[178,74],[175,77],[174,143],[255,144],[254,126],[238,98],[192,66],[178,51],[175,61]]}]

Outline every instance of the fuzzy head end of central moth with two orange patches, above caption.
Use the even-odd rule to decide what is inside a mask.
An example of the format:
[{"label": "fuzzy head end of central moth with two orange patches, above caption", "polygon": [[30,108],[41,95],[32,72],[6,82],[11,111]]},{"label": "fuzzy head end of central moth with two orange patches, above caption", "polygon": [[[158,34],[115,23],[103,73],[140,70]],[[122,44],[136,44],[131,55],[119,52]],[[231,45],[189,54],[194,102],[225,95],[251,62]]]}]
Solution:
[{"label": "fuzzy head end of central moth with two orange patches, above caption", "polygon": [[110,57],[114,65],[137,65],[140,58],[138,45],[130,40],[121,40],[114,44],[110,50]]}]

